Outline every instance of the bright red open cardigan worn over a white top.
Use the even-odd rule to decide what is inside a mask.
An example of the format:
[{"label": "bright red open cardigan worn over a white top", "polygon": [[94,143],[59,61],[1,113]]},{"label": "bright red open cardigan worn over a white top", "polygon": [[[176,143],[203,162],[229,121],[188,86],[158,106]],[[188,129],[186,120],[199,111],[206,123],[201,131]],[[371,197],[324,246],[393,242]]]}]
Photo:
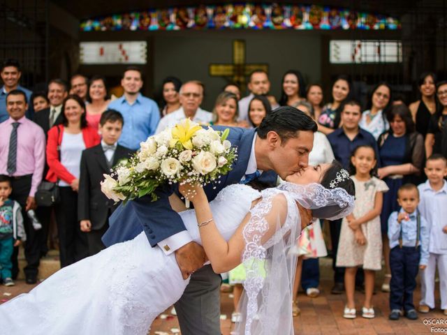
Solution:
[{"label": "bright red open cardigan worn over a white top", "polygon": [[[57,127],[59,127],[59,138],[57,138]],[[47,181],[52,181],[55,183],[57,179],[65,181],[67,184],[71,184],[75,179],[75,176],[68,172],[68,170],[59,161],[59,153],[57,152],[57,147],[62,142],[62,137],[64,136],[64,126],[59,124],[59,126],[54,126],[48,131],[47,140],[47,163],[50,170],[48,170]],[[101,137],[98,135],[98,130],[91,127],[82,128],[82,138],[84,140],[85,149],[94,147],[101,142]],[[79,162],[80,163],[80,162]]]}]

